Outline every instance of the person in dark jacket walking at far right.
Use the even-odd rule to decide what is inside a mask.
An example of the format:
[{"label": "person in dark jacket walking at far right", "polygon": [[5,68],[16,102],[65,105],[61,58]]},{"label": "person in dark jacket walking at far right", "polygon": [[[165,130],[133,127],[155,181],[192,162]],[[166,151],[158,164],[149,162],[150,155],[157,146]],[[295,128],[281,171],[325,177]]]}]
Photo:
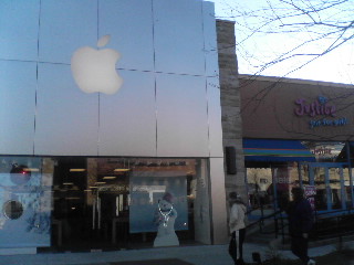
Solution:
[{"label": "person in dark jacket walking at far right", "polygon": [[314,265],[315,262],[310,259],[308,255],[309,233],[313,226],[313,211],[301,188],[292,188],[291,193],[293,201],[287,208],[291,251],[301,259],[302,264]]}]

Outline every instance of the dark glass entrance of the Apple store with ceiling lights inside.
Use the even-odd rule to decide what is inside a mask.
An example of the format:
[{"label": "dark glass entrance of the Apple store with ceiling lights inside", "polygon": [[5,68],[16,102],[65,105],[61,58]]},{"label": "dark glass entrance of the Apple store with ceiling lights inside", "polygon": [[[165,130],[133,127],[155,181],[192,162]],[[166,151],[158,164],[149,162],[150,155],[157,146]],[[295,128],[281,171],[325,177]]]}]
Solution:
[{"label": "dark glass entrance of the Apple store with ceiling lights inside", "polygon": [[[53,178],[52,245],[60,251],[126,248],[128,171],[95,158],[58,158]],[[104,170],[113,172],[106,172]]]}]

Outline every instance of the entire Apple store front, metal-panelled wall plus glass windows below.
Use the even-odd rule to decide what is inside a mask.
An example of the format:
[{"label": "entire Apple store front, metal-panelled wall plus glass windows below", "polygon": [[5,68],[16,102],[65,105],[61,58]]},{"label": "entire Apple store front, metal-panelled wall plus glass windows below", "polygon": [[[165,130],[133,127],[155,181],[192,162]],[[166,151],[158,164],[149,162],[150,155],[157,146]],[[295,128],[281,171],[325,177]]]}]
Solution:
[{"label": "entire Apple store front, metal-panelled wall plus glass windows below", "polygon": [[214,4],[3,0],[0,18],[0,252],[225,243]]}]

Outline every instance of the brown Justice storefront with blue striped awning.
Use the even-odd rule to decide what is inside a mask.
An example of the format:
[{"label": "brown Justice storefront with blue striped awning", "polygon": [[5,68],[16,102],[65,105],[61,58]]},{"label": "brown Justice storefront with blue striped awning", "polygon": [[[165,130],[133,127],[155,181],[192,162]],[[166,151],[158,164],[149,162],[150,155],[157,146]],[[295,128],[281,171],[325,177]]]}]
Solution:
[{"label": "brown Justice storefront with blue striped awning", "polygon": [[[293,186],[319,212],[353,208],[354,86],[240,75],[243,153],[253,215]],[[262,208],[260,208],[262,205]]]}]

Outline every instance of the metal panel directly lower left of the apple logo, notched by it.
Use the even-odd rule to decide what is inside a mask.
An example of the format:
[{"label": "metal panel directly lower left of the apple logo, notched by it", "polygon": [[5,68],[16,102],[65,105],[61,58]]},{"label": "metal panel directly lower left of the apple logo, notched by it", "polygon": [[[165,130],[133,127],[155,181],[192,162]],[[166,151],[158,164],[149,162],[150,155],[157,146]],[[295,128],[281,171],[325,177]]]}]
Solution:
[{"label": "metal panel directly lower left of the apple logo, notched by it", "polygon": [[38,66],[35,155],[97,155],[98,95],[84,94],[70,66]]}]

